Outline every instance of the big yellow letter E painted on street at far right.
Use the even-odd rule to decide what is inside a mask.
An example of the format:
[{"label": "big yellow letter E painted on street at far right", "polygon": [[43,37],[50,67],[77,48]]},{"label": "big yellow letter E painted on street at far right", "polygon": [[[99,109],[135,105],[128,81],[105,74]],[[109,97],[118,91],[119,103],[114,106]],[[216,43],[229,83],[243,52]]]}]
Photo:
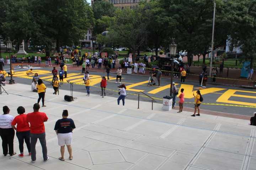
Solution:
[{"label": "big yellow letter E painted on street at far right", "polygon": [[242,97],[242,98],[253,98],[256,99],[256,96],[248,96],[248,95],[236,95],[235,92],[246,92],[246,93],[252,93],[256,94],[255,91],[245,91],[245,90],[233,90],[229,89],[221,95],[216,102],[223,102],[223,103],[232,103],[232,104],[241,104],[241,105],[248,105],[248,106],[256,106],[256,103],[249,103],[249,102],[240,102],[240,101],[234,101],[229,100],[230,97]]}]

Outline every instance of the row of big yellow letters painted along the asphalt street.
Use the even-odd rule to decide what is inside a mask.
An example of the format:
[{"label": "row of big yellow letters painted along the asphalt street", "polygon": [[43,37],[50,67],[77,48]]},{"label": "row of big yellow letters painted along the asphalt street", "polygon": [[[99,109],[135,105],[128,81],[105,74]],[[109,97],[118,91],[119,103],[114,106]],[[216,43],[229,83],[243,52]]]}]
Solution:
[{"label": "row of big yellow letters painted along the asphalt street", "polygon": [[[38,73],[39,76],[45,75],[44,77],[40,77],[41,79],[44,80],[52,80],[52,75],[51,72],[48,70],[33,70],[33,73]],[[16,72],[14,77],[21,77],[21,78],[27,78],[27,79],[32,79],[34,74],[30,74],[27,75],[26,71],[19,71]],[[84,75],[81,75],[80,73],[69,73],[67,75],[67,78],[64,79],[64,83],[66,83],[66,80],[70,80],[71,83],[74,84],[78,84],[78,85],[84,85],[84,81],[82,80],[82,78],[84,77]],[[91,86],[95,86],[96,84],[99,84],[101,82],[101,76],[100,75],[90,75],[90,79],[91,79]],[[110,80],[116,80],[116,78],[114,77],[110,77]],[[108,81],[109,82],[109,81]],[[110,82],[115,82],[115,81],[110,81]],[[122,82],[124,83],[124,82]],[[129,84],[127,87],[127,91],[134,91],[134,92],[143,92],[145,90],[140,90],[140,89],[134,89],[134,87],[137,86],[146,86],[146,83],[148,83],[147,81],[142,81],[142,82],[138,82],[138,83],[124,83],[124,84]],[[119,84],[117,84],[119,85]],[[176,84],[178,85],[178,84]],[[99,85],[95,86],[95,87],[99,87]],[[155,89],[151,90],[152,88],[156,87]],[[157,87],[157,86],[150,86],[147,88],[147,90],[151,88],[148,93],[149,94],[157,94],[161,91],[164,91],[166,89],[170,88],[170,84],[165,85],[165,86],[161,86],[161,87]],[[185,98],[193,98],[193,93],[196,93],[196,91],[194,89],[197,89],[197,87],[194,88],[193,85],[188,85],[188,84],[181,84],[181,86],[179,87],[179,94],[180,94],[180,90],[181,89],[185,89],[184,93],[185,93]],[[117,87],[118,89],[118,87]],[[109,89],[111,90],[111,89]],[[227,91],[225,91],[223,94],[219,93],[218,91],[222,91],[222,90],[227,90],[227,89],[223,89],[223,88],[215,88],[215,87],[211,87],[211,88],[207,88],[207,89],[201,89],[201,94],[202,95],[206,95],[206,94],[219,94],[221,95],[216,102],[220,102],[220,103],[202,103],[203,105],[215,105],[215,106],[233,106],[233,107],[248,107],[248,108],[256,108],[256,102],[252,101],[251,102],[240,102],[240,101],[234,101],[234,100],[229,100],[230,97],[239,97],[241,99],[243,98],[249,98],[249,99],[256,99],[256,92],[255,91],[245,91],[245,90],[233,90],[233,89],[228,89]],[[117,90],[111,90],[111,91],[117,91]],[[240,95],[240,94],[235,94],[236,92],[243,92],[243,93],[251,93],[253,95]],[[127,93],[129,94],[129,93]],[[169,92],[168,92],[169,94]],[[137,94],[132,94],[130,93],[129,95],[134,95],[137,96]],[[142,97],[147,97],[144,95],[140,95]],[[162,101],[162,98],[157,98],[157,97],[153,97],[155,100],[159,100]],[[192,103],[193,102],[185,102],[185,103]]]}]

